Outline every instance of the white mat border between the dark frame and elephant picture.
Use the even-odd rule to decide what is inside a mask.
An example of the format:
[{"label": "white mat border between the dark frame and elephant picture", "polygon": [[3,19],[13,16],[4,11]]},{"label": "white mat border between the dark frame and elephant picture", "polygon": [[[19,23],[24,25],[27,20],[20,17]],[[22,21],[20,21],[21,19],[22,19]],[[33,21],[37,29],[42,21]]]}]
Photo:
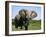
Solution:
[{"label": "white mat border between the dark frame and elephant picture", "polygon": [[[11,18],[11,6],[38,6],[41,7],[41,30],[28,30],[28,31],[12,31],[12,18]],[[26,33],[41,33],[44,29],[44,14],[43,14],[43,5],[37,4],[20,4],[20,3],[9,3],[9,34],[26,34]]]}]

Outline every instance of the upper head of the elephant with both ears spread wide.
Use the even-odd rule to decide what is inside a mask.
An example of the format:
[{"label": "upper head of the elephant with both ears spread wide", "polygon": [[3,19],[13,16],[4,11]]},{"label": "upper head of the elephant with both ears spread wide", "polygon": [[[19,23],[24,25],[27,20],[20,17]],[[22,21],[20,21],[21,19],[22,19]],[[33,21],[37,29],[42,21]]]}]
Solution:
[{"label": "upper head of the elephant with both ears spread wide", "polygon": [[22,17],[26,17],[26,18],[35,18],[37,16],[37,13],[35,11],[32,11],[32,10],[25,10],[25,9],[22,9],[19,11],[19,15],[22,16]]}]

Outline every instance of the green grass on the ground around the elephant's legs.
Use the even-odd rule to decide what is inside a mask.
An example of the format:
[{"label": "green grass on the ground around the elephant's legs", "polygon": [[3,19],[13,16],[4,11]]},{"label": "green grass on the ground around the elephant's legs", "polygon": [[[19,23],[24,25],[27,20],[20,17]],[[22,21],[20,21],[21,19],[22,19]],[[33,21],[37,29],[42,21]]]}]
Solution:
[{"label": "green grass on the ground around the elephant's legs", "polygon": [[[29,26],[28,26],[28,30],[40,30],[41,29],[41,21],[40,20],[33,20],[30,21]],[[12,25],[12,30],[13,31],[22,31],[23,29],[20,29],[20,27],[18,29],[15,28],[15,25]]]}]

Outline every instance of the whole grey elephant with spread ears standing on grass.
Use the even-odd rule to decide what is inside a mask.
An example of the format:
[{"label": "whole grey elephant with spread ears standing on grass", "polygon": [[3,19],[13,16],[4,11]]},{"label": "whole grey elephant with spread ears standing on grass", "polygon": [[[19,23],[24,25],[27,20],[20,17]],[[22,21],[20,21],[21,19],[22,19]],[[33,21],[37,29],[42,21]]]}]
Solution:
[{"label": "whole grey elephant with spread ears standing on grass", "polygon": [[28,11],[25,9],[20,10],[19,14],[15,17],[16,28],[21,27],[22,29],[22,26],[24,26],[25,30],[28,30],[29,21],[36,16],[37,14],[35,11]]}]

